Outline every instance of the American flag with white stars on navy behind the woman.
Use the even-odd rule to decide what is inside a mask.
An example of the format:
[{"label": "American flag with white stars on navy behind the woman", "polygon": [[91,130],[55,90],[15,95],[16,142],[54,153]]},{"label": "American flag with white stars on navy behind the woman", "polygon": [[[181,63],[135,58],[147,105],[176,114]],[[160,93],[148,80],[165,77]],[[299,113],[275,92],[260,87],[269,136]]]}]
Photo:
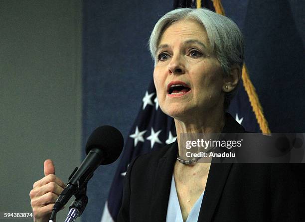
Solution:
[{"label": "American flag with white stars on navy behind the woman", "polygon": [[[174,8],[185,6],[196,7],[196,1],[174,0],[173,5]],[[202,6],[215,11],[212,5],[212,1],[210,0],[202,1]],[[237,95],[231,101],[228,112],[247,131],[261,132],[242,80]],[[143,104],[138,117],[130,130],[128,140],[125,144],[122,158],[111,185],[108,201],[105,204],[101,222],[114,222],[117,220],[117,215],[122,204],[123,180],[132,159],[140,154],[150,152],[152,149],[161,148],[175,140],[176,132],[174,121],[160,110],[155,87],[153,81],[151,81],[143,97]]]}]

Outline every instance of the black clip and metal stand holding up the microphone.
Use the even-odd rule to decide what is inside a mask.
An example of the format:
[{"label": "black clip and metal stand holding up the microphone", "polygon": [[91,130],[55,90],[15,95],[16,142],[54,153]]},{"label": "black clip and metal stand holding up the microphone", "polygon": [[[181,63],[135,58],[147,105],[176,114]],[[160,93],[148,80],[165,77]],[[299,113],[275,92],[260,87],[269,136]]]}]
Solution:
[{"label": "black clip and metal stand holding up the microphone", "polygon": [[65,222],[74,222],[77,217],[80,217],[85,210],[88,197],[87,197],[87,183],[80,189],[75,196],[75,201],[69,207],[69,213]]}]

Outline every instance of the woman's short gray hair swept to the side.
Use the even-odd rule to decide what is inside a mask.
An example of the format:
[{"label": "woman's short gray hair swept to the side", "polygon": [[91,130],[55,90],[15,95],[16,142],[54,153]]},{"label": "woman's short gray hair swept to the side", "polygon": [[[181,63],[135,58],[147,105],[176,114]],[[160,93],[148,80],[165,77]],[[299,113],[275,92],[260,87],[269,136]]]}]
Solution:
[{"label": "woman's short gray hair swept to the side", "polygon": [[[230,67],[234,64],[239,65],[242,70],[244,41],[241,31],[231,19],[207,8],[179,8],[167,12],[158,20],[149,40],[154,65],[156,64],[156,50],[164,30],[172,23],[183,19],[193,19],[203,25],[224,75],[230,75]],[[224,109],[229,107],[237,88],[225,93]]]}]

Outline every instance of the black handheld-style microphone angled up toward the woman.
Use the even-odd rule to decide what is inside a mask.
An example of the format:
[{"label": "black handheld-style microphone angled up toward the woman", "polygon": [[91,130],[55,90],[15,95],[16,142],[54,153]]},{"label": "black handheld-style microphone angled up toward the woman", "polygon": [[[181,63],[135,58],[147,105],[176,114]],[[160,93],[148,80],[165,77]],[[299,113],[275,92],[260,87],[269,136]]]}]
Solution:
[{"label": "black handheld-style microphone angled up toward the woman", "polygon": [[66,188],[61,192],[53,206],[56,213],[81,191],[93,176],[99,165],[114,162],[121,154],[124,139],[119,130],[112,126],[98,127],[90,135],[86,144],[87,156],[79,167],[76,167],[68,179]]}]

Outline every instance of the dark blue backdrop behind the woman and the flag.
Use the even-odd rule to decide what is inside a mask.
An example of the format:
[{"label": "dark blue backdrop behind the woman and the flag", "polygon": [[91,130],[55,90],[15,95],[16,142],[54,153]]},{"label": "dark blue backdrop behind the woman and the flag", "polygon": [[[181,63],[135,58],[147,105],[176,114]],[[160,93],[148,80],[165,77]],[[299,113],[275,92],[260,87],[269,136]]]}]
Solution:
[{"label": "dark blue backdrop behind the woman and the flag", "polygon": [[[244,33],[246,64],[271,131],[304,133],[305,2],[222,3]],[[83,1],[83,147],[106,124],[126,140],[152,80],[150,32],[171,8],[171,0]],[[83,222],[100,222],[117,163],[99,167],[90,180]]]}]

